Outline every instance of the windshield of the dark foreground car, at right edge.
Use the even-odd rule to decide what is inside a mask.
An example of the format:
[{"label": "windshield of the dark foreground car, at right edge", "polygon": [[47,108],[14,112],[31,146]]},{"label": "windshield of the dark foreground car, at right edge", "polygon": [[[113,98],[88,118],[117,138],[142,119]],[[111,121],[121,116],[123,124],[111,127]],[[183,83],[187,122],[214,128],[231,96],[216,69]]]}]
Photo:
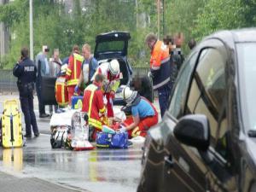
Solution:
[{"label": "windshield of the dark foreground car, at right edge", "polygon": [[246,130],[256,131],[256,42],[236,44],[241,115]]}]

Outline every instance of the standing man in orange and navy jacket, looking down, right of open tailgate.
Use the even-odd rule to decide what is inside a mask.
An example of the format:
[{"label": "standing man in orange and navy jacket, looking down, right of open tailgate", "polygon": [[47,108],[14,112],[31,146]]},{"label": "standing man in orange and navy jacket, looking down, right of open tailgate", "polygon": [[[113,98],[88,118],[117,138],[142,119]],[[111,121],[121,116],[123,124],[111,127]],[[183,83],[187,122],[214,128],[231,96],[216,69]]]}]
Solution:
[{"label": "standing man in orange and navy jacket, looking down, right of open tailgate", "polygon": [[153,80],[153,89],[158,91],[160,113],[163,117],[166,108],[169,106],[169,96],[172,91],[169,48],[158,40],[153,33],[147,35],[145,42],[148,48],[151,49],[150,73]]}]

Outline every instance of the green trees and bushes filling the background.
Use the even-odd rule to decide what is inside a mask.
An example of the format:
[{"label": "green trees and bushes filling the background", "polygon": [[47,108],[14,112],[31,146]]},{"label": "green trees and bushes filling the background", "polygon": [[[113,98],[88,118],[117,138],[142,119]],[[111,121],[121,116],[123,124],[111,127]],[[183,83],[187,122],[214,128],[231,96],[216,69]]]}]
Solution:
[{"label": "green trees and bushes filling the background", "polygon": [[[255,26],[256,0],[160,0],[160,38],[183,32],[183,50],[189,52],[190,38],[201,40],[221,29]],[[102,32],[131,33],[128,59],[136,67],[148,67],[149,50],[144,44],[148,32],[158,32],[156,0],[73,0],[72,12],[56,0],[33,1],[34,56],[48,44],[59,48],[61,58],[70,55],[73,45],[95,45]],[[11,33],[9,54],[1,66],[10,68],[20,56],[22,46],[29,47],[29,1],[15,0],[0,6],[0,20]],[[164,15],[163,15],[164,13]]]}]

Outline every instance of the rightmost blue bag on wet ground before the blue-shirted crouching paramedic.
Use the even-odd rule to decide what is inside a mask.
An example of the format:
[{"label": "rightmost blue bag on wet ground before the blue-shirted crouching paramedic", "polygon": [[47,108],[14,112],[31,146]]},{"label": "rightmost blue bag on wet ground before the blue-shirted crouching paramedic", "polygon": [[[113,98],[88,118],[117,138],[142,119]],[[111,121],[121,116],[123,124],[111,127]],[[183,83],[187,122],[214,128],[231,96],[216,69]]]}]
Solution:
[{"label": "rightmost blue bag on wet ground before the blue-shirted crouching paramedic", "polygon": [[128,148],[128,133],[117,132],[112,136],[110,148]]}]

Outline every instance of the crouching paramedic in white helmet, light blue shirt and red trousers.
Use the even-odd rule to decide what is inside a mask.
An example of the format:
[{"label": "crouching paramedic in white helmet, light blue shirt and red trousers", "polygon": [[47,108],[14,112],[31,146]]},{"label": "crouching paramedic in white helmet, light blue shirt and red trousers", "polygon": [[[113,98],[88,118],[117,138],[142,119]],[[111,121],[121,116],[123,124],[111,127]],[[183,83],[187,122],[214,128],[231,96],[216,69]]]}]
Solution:
[{"label": "crouching paramedic in white helmet, light blue shirt and red trousers", "polygon": [[154,105],[129,87],[122,90],[122,96],[127,107],[131,106],[132,117],[123,122],[125,127],[121,130],[128,131],[129,137],[145,137],[148,129],[158,123],[158,113]]}]

